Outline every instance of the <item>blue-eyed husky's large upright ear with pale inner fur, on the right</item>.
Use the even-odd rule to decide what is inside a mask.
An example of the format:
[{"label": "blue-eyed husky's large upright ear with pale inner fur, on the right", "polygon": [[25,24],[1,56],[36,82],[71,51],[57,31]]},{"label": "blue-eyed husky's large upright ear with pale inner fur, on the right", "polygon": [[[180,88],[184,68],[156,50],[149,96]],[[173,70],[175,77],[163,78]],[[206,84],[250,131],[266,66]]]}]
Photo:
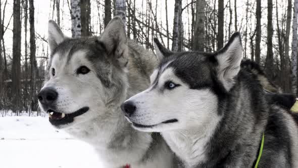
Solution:
[{"label": "blue-eyed husky's large upright ear with pale inner fur, on the right", "polygon": [[229,91],[234,86],[242,60],[242,45],[238,32],[231,36],[226,46],[218,51],[215,58],[218,62],[217,77],[223,83],[224,88]]}]

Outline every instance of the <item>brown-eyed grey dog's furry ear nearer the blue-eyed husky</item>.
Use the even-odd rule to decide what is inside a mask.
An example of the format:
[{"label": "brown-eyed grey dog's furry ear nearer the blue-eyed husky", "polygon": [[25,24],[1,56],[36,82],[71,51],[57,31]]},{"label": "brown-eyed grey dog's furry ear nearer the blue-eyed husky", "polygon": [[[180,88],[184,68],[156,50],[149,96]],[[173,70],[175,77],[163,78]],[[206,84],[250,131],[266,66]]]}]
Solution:
[{"label": "brown-eyed grey dog's furry ear nearer the blue-eyed husky", "polygon": [[114,17],[99,39],[113,59],[120,67],[125,67],[128,62],[128,46],[125,25],[120,17]]}]

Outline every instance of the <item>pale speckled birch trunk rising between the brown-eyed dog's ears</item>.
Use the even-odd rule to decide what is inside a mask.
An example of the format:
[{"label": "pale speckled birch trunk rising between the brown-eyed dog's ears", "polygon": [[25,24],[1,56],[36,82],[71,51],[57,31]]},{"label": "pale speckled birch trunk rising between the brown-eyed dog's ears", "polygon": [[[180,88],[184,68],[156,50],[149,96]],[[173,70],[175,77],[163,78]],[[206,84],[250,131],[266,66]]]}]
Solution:
[{"label": "pale speckled birch trunk rising between the brown-eyed dog's ears", "polygon": [[81,5],[80,0],[71,0],[71,34],[72,37],[81,36]]}]

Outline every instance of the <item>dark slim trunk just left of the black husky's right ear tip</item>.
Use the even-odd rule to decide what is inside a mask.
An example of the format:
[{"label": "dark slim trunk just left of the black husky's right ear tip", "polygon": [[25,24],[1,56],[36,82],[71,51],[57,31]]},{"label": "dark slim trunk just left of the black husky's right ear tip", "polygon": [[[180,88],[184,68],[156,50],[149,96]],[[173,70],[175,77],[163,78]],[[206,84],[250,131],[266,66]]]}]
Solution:
[{"label": "dark slim trunk just left of the black husky's right ear tip", "polygon": [[223,48],[224,38],[224,0],[218,1],[217,50]]}]

